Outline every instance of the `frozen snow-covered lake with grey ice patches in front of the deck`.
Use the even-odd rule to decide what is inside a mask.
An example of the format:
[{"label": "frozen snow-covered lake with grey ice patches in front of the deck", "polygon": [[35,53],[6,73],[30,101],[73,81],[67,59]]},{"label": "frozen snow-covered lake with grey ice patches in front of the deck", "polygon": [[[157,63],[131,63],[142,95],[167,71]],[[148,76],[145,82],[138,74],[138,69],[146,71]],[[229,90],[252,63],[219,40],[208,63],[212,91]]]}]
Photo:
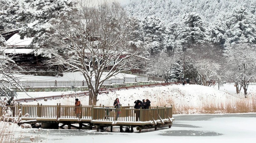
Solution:
[{"label": "frozen snow-covered lake with grey ice patches in front of the deck", "polygon": [[[119,127],[110,128],[104,132],[96,130],[77,129],[43,129],[38,133],[33,133],[35,129],[23,130],[23,136],[38,137],[47,143],[112,143],[118,140],[119,143],[134,143],[145,141],[155,142],[251,142],[256,137],[256,114],[207,114],[207,115],[174,115],[175,121],[171,128],[164,127],[142,130],[139,133],[134,128],[134,132],[119,132]],[[124,128],[125,130],[125,128]],[[30,142],[26,137],[22,142]]]}]

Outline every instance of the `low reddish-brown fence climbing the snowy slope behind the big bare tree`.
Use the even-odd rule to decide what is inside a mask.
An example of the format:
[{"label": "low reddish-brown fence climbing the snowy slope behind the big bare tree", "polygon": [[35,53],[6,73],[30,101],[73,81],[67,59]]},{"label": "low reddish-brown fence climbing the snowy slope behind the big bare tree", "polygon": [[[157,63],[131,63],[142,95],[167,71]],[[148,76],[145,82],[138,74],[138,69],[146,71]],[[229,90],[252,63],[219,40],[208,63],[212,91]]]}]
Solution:
[{"label": "low reddish-brown fence climbing the snowy slope behind the big bare tree", "polygon": [[[118,88],[108,88],[106,89],[109,92],[120,91],[120,90],[127,90],[127,89],[135,89],[135,88],[144,88],[144,87],[160,87],[160,86],[168,86],[174,85],[177,83],[158,83],[158,84],[148,84],[148,85],[138,85],[138,86],[130,86],[130,87],[118,87]],[[60,99],[66,97],[79,97],[79,96],[88,96],[90,93],[89,91],[86,92],[79,92],[79,93],[71,93],[71,94],[62,94],[62,95],[54,95],[54,96],[43,96],[43,97],[35,97],[35,98],[20,98],[16,101],[18,102],[32,102],[32,101],[40,101],[44,99]]]}]

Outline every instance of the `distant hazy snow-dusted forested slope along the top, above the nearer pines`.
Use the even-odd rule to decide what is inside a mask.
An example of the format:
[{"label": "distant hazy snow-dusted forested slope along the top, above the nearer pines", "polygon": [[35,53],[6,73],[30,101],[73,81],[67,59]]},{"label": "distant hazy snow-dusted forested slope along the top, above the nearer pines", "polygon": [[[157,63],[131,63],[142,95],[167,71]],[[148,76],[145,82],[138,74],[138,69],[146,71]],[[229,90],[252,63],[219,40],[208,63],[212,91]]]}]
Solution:
[{"label": "distant hazy snow-dusted forested slope along the top, above the nearer pines", "polygon": [[213,22],[218,16],[232,13],[235,7],[246,7],[255,13],[255,0],[130,0],[125,5],[138,18],[155,15],[168,24],[182,21],[185,13],[196,12],[203,20]]}]

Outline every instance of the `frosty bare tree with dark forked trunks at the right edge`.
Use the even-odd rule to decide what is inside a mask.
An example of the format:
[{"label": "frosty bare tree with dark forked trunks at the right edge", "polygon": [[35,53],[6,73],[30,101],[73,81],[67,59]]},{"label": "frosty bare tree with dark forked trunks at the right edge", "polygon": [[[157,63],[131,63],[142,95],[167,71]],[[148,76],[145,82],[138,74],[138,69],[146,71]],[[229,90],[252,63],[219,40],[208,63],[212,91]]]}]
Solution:
[{"label": "frosty bare tree with dark forked trunks at the right edge", "polygon": [[[225,54],[228,58],[227,77],[234,81],[237,93],[239,93],[241,87],[243,87],[244,97],[246,98],[249,83],[256,79],[255,45],[229,45],[225,50]],[[239,85],[241,86],[240,89]]]}]

